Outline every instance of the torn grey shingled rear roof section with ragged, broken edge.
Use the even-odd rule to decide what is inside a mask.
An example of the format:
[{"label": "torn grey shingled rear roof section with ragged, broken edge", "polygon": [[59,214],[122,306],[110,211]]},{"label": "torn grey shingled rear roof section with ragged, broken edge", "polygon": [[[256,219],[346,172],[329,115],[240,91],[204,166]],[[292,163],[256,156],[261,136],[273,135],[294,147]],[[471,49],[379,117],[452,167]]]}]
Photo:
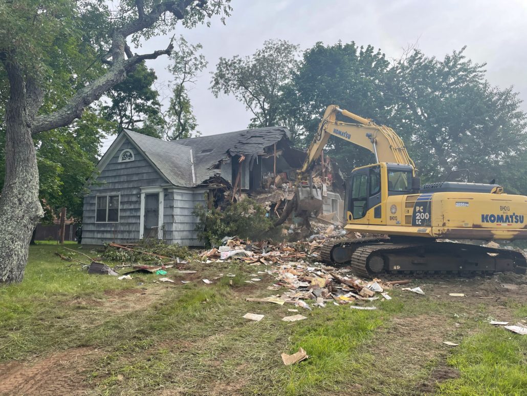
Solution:
[{"label": "torn grey shingled rear roof section with ragged, broken edge", "polygon": [[196,181],[199,183],[219,173],[214,166],[220,161],[235,155],[264,154],[266,147],[290,137],[287,128],[267,127],[174,140],[171,144],[192,148]]}]

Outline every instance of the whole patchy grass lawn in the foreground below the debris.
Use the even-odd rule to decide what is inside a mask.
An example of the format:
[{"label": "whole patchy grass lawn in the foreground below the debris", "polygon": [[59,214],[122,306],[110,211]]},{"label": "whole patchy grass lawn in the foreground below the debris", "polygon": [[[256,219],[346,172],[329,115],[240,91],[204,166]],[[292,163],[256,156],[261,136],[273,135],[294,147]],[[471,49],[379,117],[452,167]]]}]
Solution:
[{"label": "whole patchy grass lawn in the foreground below the debris", "polygon": [[[57,250],[32,246],[24,282],[0,288],[0,394],[520,395],[527,389],[527,337],[486,323],[525,320],[523,286],[503,291],[492,279],[416,281],[425,296],[395,289],[392,300],[372,303],[376,310],[327,304],[309,312],[245,300],[280,293],[266,289],[269,276],[244,282],[264,266],[192,262],[187,269],[197,274],[169,269],[174,284],[154,283],[159,276],[88,275],[54,256]],[[201,281],[227,272],[237,276]],[[469,297],[448,296],[460,290]],[[307,319],[282,322],[296,314],[288,308]],[[248,312],[265,317],[242,318]],[[298,347],[309,359],[285,366],[280,353]]]}]

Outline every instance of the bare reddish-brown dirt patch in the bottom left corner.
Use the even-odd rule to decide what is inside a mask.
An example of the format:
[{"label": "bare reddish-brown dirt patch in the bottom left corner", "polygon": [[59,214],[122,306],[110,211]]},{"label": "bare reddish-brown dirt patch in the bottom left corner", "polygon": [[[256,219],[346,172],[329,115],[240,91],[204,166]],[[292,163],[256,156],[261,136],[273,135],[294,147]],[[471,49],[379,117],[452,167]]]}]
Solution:
[{"label": "bare reddish-brown dirt patch in the bottom left corner", "polygon": [[0,364],[0,394],[84,394],[88,388],[85,367],[97,355],[90,347],[72,348],[43,359]]}]

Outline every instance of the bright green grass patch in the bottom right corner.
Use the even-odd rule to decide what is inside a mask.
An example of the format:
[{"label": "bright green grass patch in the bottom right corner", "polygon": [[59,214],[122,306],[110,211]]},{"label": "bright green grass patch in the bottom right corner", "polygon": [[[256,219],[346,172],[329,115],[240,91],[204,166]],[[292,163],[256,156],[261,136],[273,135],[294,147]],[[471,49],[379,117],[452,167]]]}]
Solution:
[{"label": "bright green grass patch in the bottom right corner", "polygon": [[461,376],[442,383],[445,395],[524,395],[527,392],[527,338],[504,328],[482,326],[448,358]]}]

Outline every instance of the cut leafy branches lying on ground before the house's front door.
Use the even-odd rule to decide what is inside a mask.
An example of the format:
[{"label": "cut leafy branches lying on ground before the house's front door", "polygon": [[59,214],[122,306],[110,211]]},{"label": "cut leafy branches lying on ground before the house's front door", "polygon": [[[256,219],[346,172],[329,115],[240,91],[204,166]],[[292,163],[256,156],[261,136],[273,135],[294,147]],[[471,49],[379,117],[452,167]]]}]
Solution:
[{"label": "cut leafy branches lying on ground before the house's front door", "polygon": [[189,249],[186,246],[179,246],[177,243],[168,244],[158,239],[143,239],[135,244],[133,249],[125,250],[105,245],[103,257],[112,261],[119,262],[141,262],[141,261],[154,261],[161,262],[162,259],[159,257],[151,256],[150,254],[143,254],[142,252],[159,254],[160,256],[170,257],[175,260],[176,258],[187,259],[191,256]]}]

